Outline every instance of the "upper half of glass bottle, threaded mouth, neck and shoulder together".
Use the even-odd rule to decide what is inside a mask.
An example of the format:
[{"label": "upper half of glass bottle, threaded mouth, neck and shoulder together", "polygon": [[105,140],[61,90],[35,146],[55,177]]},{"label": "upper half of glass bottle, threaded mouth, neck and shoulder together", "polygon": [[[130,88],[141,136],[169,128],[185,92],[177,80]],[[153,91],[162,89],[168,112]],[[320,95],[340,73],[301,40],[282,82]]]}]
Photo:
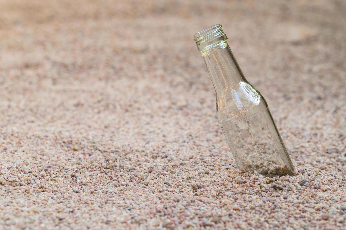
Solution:
[{"label": "upper half of glass bottle, threaded mouth, neck and shoulder together", "polygon": [[220,124],[261,102],[266,106],[260,92],[246,81],[222,31],[218,24],[194,35],[216,91]]}]

